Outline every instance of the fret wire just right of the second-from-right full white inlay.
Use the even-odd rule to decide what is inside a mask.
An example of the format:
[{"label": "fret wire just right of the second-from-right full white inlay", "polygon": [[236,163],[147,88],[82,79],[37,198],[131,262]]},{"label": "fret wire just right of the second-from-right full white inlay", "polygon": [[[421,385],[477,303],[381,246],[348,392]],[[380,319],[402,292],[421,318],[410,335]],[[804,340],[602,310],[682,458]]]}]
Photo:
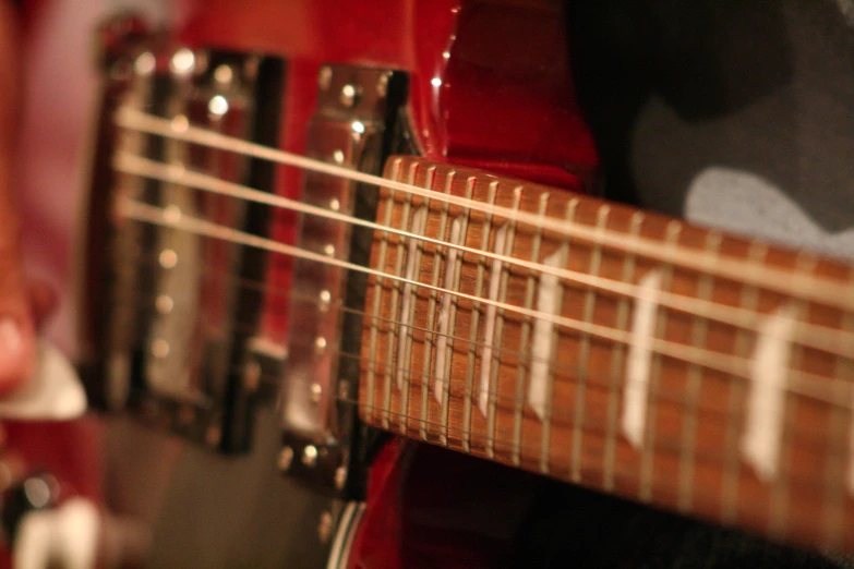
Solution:
[{"label": "fret wire just right of the second-from-right full white inlay", "polygon": [[[679,221],[671,221],[667,225],[667,233],[665,240],[665,246],[674,246],[682,232],[682,223]],[[660,290],[671,290],[673,281],[673,265],[664,265],[661,267],[661,287]],[[638,310],[636,307],[635,310]],[[665,338],[667,329],[667,312],[662,306],[655,306],[655,338]],[[643,433],[643,446],[640,452],[640,492],[638,498],[640,501],[649,501],[652,499],[652,485],[654,483],[653,476],[653,459],[655,447],[655,420],[657,420],[657,394],[659,389],[659,380],[661,377],[661,354],[653,352],[652,361],[650,362],[649,385],[647,388],[647,419],[645,423]]]}]

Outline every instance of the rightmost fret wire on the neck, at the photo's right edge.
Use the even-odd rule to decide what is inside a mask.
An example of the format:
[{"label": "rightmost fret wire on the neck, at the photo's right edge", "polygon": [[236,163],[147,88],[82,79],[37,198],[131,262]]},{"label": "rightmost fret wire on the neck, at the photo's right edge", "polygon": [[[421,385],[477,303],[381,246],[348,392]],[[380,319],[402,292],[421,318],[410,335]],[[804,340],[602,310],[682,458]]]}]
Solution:
[{"label": "rightmost fret wire on the neck, at the photo's right edge", "polygon": [[[850,280],[852,286],[854,286],[854,270],[850,275]],[[854,329],[854,313],[843,314],[841,327],[846,330]],[[854,344],[852,344],[851,349],[852,353],[854,353]],[[841,377],[854,376],[854,362],[837,356],[833,365],[833,376],[837,382]],[[854,436],[850,433],[852,427],[849,426],[849,420],[847,413],[842,409],[835,407],[830,409],[829,431],[831,434],[835,434],[835,436],[831,436],[828,443],[822,522],[825,524],[826,546],[831,550],[839,549],[844,540],[845,495],[850,492],[850,483],[846,479],[851,477],[847,470],[854,468],[854,463],[852,463],[854,458],[854,451],[852,451]],[[854,422],[852,425],[854,425]],[[841,437],[839,433],[842,433]]]}]

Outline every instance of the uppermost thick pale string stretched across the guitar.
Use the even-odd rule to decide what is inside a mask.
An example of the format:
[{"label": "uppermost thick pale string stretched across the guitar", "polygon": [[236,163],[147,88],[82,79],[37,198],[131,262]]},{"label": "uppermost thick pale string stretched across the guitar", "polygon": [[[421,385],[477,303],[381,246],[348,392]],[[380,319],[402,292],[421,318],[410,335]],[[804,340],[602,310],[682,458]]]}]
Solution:
[{"label": "uppermost thick pale string stretched across the guitar", "polygon": [[[378,186],[394,186],[396,190],[402,191],[410,195],[418,195],[421,197],[430,197],[430,190],[425,190],[412,184],[406,184],[387,180],[377,175],[368,174],[350,168],[340,167],[332,164],[324,162],[322,160],[315,160],[306,158],[304,156],[296,155],[285,150],[278,150],[275,148],[266,147],[256,143],[251,143],[240,138],[218,136],[216,133],[200,129],[197,126],[190,125],[181,129],[180,132],[172,128],[172,123],[168,119],[147,114],[145,112],[131,109],[128,107],[120,107],[115,117],[115,122],[118,126],[125,130],[143,131],[149,134],[158,136],[167,136],[171,138],[184,140],[194,144],[201,144],[204,146],[221,147],[230,152],[241,153],[244,155],[253,156],[262,160],[275,161],[286,166],[291,166],[302,170],[311,170],[324,174],[334,175],[337,178],[346,178],[358,182],[378,185]],[[121,165],[117,165],[120,168]],[[546,218],[545,220],[538,220],[533,214],[524,214],[513,211],[510,208],[501,206],[488,206],[479,202],[466,202],[465,198],[459,196],[445,196],[453,205],[461,207],[470,207],[478,211],[491,211],[494,215],[506,217],[507,219],[514,218],[516,221],[536,226],[539,222],[543,223],[543,228],[550,231],[556,231],[561,234],[567,234],[575,239],[591,240],[592,230],[582,226],[566,226],[562,221]],[[640,239],[626,243],[625,235],[618,233],[609,233],[602,243],[603,246],[613,247],[623,253],[634,251],[636,254],[662,262],[671,265],[678,264],[683,268],[689,268],[700,273],[707,273],[709,270],[714,271],[715,276],[732,279],[736,282],[744,282],[743,277],[745,273],[745,266],[739,261],[734,259],[720,259],[713,267],[705,266],[702,263],[698,263],[696,258],[696,252],[687,250],[674,250],[671,252],[663,251],[659,243]],[[678,256],[678,258],[675,258]],[[751,284],[762,286],[774,290],[775,292],[785,295],[796,295],[798,293],[797,287],[794,287],[789,279],[789,275],[784,270],[780,270],[773,267],[762,267],[762,274],[759,280],[750,282]],[[850,298],[849,291],[833,281],[826,279],[810,279],[808,282],[798,283],[802,288],[805,288],[805,292],[810,300],[830,303],[839,308],[854,310],[854,299]]]}]

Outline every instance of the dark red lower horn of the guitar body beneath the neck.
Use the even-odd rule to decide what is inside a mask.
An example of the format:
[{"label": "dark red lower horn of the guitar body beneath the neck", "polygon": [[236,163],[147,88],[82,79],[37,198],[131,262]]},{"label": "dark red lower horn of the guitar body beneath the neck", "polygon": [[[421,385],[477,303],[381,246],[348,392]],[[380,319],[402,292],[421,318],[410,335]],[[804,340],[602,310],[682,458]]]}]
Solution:
[{"label": "dark red lower horn of the guitar body beneath the neck", "polygon": [[394,441],[372,471],[347,569],[503,567],[541,483],[441,448]]}]

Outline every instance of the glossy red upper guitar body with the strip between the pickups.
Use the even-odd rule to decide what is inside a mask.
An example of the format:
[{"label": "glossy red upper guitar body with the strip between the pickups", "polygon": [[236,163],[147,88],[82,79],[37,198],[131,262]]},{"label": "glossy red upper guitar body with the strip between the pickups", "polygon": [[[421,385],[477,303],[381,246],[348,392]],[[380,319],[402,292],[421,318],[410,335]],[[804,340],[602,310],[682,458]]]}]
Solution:
[{"label": "glossy red upper guitar body with the strip between the pickups", "polygon": [[[555,2],[211,0],[191,10],[181,40],[288,60],[280,146],[302,153],[322,63],[404,70],[422,152],[584,192],[598,159],[575,99]],[[280,171],[277,193],[299,197],[301,172]],[[294,217],[277,213],[273,237],[293,242]],[[278,257],[270,288],[290,286]],[[262,330],[286,342],[287,294],[268,294]]]}]

